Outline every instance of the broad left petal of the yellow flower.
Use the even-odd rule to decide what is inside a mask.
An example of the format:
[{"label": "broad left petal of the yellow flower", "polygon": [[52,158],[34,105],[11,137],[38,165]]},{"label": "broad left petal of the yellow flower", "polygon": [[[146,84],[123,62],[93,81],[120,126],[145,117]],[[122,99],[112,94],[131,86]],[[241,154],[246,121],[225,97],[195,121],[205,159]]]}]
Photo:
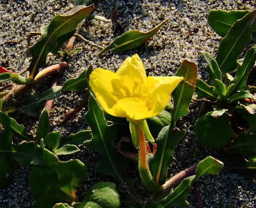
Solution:
[{"label": "broad left petal of the yellow flower", "polygon": [[89,85],[100,106],[108,113],[117,101],[123,98],[122,93],[117,93],[117,89],[121,87],[121,79],[109,70],[95,69],[90,74]]}]

